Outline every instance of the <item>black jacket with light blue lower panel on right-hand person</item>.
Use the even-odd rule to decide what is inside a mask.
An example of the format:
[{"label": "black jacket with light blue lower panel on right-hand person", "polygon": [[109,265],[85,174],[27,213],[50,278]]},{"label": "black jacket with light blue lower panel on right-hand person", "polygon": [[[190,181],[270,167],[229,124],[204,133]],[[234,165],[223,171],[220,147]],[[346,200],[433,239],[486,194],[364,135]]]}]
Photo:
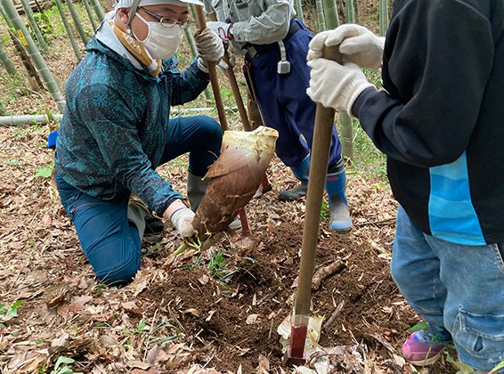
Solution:
[{"label": "black jacket with light blue lower panel on right-hand person", "polygon": [[427,234],[504,242],[504,1],[395,0],[386,92],[354,103],[395,198]]}]

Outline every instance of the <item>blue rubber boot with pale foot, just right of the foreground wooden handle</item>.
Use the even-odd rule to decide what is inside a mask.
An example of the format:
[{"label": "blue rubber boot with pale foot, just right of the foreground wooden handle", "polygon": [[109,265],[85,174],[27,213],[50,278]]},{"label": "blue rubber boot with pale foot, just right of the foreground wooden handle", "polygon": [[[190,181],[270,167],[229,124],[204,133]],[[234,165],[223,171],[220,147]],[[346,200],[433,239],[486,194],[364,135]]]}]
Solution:
[{"label": "blue rubber boot with pale foot, just right of the foreground wooden handle", "polygon": [[343,159],[340,159],[336,167],[329,167],[326,179],[326,191],[329,197],[329,228],[340,233],[349,232],[352,229],[352,218],[348,210],[345,188],[345,166]]}]

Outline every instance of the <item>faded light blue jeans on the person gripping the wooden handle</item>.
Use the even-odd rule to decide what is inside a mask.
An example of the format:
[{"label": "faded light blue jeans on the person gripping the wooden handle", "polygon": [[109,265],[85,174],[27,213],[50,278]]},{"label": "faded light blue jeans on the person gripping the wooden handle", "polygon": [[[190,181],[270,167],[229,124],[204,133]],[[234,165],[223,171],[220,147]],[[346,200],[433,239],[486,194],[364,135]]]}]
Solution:
[{"label": "faded light blue jeans on the person gripping the wooden handle", "polygon": [[492,370],[504,359],[504,243],[472,247],[436,239],[400,206],[391,272],[410,305],[451,333],[461,362]]}]

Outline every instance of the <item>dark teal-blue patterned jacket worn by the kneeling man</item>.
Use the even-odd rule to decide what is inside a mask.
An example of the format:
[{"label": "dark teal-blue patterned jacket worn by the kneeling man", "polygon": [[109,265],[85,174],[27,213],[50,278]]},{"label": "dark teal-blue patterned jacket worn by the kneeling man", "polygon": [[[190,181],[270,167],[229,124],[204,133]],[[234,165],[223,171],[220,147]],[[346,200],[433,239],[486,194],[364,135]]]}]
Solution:
[{"label": "dark teal-blue patterned jacket worn by the kneeling man", "polygon": [[164,150],[170,105],[191,102],[209,76],[196,61],[182,73],[176,59],[153,77],[94,37],[70,74],[56,146],[56,172],[98,199],[134,192],[158,215],[182,198],[155,171]]}]

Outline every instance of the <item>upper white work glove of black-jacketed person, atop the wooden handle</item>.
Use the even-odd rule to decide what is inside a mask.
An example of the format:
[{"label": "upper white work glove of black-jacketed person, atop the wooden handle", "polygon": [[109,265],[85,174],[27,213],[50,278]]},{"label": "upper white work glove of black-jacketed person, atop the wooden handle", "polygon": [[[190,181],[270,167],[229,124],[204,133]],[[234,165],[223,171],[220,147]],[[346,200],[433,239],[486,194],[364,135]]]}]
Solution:
[{"label": "upper white work glove of black-jacketed person, atop the wooden handle", "polygon": [[385,37],[377,37],[369,29],[350,23],[333,30],[322,31],[313,37],[307,60],[321,58],[324,46],[337,45],[343,63],[353,62],[366,69],[381,67]]}]

